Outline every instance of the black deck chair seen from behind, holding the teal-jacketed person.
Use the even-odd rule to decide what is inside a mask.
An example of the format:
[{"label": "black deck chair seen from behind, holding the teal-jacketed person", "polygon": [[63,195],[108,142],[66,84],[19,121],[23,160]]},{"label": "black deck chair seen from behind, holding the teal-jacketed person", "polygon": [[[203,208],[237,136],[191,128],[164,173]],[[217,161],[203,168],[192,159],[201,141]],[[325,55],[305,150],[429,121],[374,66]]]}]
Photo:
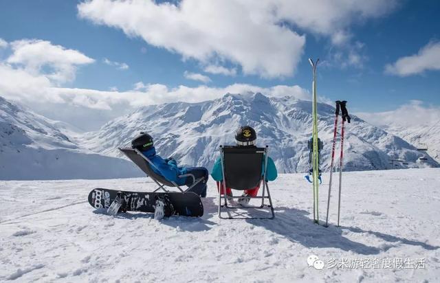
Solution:
[{"label": "black deck chair seen from behind, holding the teal-jacketed person", "polygon": [[[219,218],[223,219],[273,219],[275,217],[274,207],[272,206],[272,199],[270,197],[269,186],[266,181],[267,170],[267,146],[265,148],[254,147],[237,147],[237,146],[220,146],[221,152],[221,172],[223,174],[223,192],[226,192],[226,188],[233,190],[247,190],[254,188],[257,185],[263,184],[263,190],[261,196],[248,196],[249,199],[261,199],[261,205],[259,206],[230,206],[228,205],[228,198],[223,194],[224,204],[221,204],[221,190],[219,188]],[[262,169],[263,168],[263,169]],[[263,172],[263,174],[262,174]],[[267,196],[265,192],[267,190]],[[243,196],[232,196],[232,199],[239,199]],[[265,199],[269,200],[269,204],[265,205]],[[223,207],[228,213],[228,217],[221,215],[221,207]],[[270,208],[271,216],[268,217],[245,217],[244,213],[234,212],[234,216],[231,215],[232,209],[263,209],[264,207]]]}]

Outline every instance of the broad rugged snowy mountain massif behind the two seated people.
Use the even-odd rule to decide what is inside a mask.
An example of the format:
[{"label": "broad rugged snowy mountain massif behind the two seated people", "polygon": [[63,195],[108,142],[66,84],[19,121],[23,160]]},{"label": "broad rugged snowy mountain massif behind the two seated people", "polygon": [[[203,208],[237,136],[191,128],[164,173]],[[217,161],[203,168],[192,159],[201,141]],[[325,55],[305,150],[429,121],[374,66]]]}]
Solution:
[{"label": "broad rugged snowy mountain massif behind the two seated people", "polygon": [[[334,109],[318,104],[319,135],[325,142],[322,170],[329,169]],[[217,100],[175,102],[146,106],[87,133],[80,144],[105,155],[120,156],[115,150],[128,145],[140,131],[153,135],[157,151],[173,156],[181,164],[212,167],[221,144],[234,144],[239,125],[256,128],[258,144],[270,146],[270,156],[280,172],[306,172],[309,168],[307,140],[311,137],[311,102],[291,97],[268,98],[227,94]],[[388,159],[402,159],[408,165],[397,168],[425,167],[423,156],[403,139],[386,133],[353,116],[347,125],[345,170],[390,168]],[[430,166],[439,164],[428,157]]]}]

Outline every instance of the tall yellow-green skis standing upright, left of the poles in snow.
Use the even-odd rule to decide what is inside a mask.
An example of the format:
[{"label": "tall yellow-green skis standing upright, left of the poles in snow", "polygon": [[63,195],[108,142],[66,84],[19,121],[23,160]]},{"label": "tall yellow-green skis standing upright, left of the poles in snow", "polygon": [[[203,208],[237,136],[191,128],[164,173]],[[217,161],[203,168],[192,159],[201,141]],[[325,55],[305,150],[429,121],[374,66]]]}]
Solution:
[{"label": "tall yellow-green skis standing upright, left of the poles in snow", "polygon": [[312,107],[312,116],[313,116],[313,128],[312,128],[312,139],[313,139],[313,187],[314,187],[314,222],[319,224],[319,210],[318,210],[318,192],[319,192],[319,152],[318,152],[318,109],[316,102],[316,66],[318,66],[319,59],[314,63],[311,58],[309,58],[309,62],[314,74],[314,80],[312,83],[313,89],[313,107]]}]

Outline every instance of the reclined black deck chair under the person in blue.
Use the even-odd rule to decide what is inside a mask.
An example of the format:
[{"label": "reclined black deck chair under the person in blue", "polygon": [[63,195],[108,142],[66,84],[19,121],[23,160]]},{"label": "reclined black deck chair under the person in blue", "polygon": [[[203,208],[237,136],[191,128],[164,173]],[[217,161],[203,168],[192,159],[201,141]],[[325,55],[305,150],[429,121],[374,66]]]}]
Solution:
[{"label": "reclined black deck chair under the person in blue", "polygon": [[153,181],[155,181],[155,183],[159,187],[156,188],[153,192],[157,192],[157,190],[160,189],[164,190],[165,192],[169,192],[168,190],[166,190],[166,188],[164,188],[164,186],[166,185],[168,187],[177,188],[180,190],[180,192],[183,193],[190,190],[192,187],[197,185],[197,183],[203,180],[203,178],[195,179],[193,174],[180,175],[179,178],[185,178],[185,177],[192,178],[192,185],[188,189],[182,190],[179,187],[179,185],[177,185],[177,183],[173,181],[168,181],[162,175],[159,175],[156,172],[154,172],[153,169],[151,169],[151,166],[155,166],[155,165],[153,164],[153,162],[151,162],[150,159],[148,159],[145,155],[143,155],[142,152],[140,152],[140,150],[137,150],[136,148],[135,149],[118,148],[118,150],[122,151],[124,155],[126,155],[126,157],[129,157],[129,159],[133,161],[133,163],[135,163],[137,167],[140,168],[140,170],[142,170],[145,174],[147,174],[148,177],[150,177],[151,179],[153,179]]}]

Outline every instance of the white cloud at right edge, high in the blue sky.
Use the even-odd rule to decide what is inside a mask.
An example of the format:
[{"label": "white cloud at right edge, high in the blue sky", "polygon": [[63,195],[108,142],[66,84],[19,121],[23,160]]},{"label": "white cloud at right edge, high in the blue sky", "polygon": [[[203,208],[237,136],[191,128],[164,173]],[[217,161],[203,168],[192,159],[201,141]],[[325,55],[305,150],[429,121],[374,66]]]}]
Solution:
[{"label": "white cloud at right edge, high in the blue sky", "polygon": [[440,70],[440,42],[430,42],[417,54],[397,59],[385,66],[385,72],[397,76],[411,76],[424,71]]}]

